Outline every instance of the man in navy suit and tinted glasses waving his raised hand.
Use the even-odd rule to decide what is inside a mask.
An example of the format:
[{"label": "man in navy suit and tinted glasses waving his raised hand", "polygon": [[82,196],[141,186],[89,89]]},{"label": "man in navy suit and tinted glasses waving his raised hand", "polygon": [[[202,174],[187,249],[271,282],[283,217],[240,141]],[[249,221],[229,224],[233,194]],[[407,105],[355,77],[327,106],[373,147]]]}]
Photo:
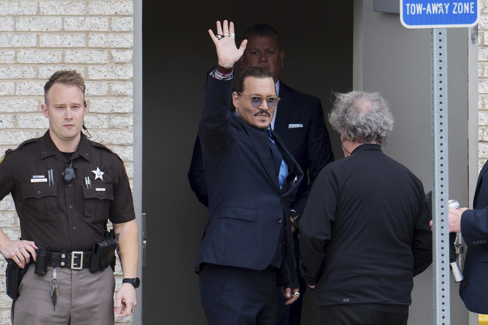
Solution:
[{"label": "man in navy suit and tinted glasses waving his raised hand", "polygon": [[272,75],[248,67],[232,91],[247,41],[236,48],[227,20],[208,33],[219,63],[207,74],[198,130],[209,189],[195,265],[201,303],[210,325],[275,324],[277,286],[287,304],[299,296],[287,214],[303,172],[269,127],[280,100]]}]

